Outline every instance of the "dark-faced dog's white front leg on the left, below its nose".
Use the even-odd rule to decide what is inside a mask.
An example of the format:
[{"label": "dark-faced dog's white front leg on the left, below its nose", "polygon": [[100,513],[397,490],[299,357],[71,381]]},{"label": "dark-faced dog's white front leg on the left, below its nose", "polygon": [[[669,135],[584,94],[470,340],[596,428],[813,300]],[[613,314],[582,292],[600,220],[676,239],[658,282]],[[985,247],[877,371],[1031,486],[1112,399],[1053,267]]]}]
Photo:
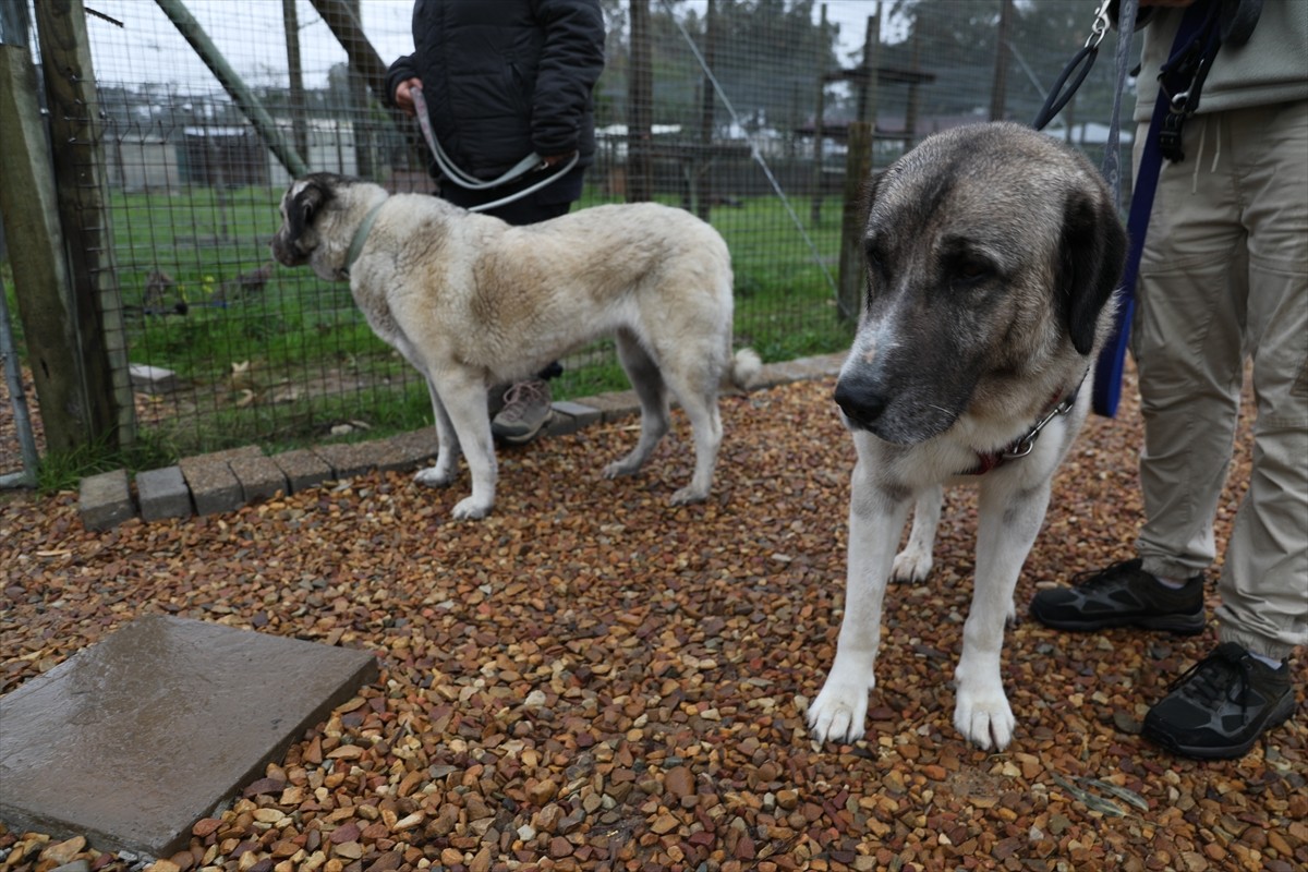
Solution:
[{"label": "dark-faced dog's white front leg on the left, below its nose", "polygon": [[[872,438],[854,435],[855,444]],[[889,493],[876,482],[875,454],[859,444],[849,501],[845,617],[840,622],[836,662],[821,693],[808,706],[808,728],[818,741],[852,743],[862,736],[867,692],[876,685],[874,669],[882,634],[882,600],[909,502],[906,495]]]}]

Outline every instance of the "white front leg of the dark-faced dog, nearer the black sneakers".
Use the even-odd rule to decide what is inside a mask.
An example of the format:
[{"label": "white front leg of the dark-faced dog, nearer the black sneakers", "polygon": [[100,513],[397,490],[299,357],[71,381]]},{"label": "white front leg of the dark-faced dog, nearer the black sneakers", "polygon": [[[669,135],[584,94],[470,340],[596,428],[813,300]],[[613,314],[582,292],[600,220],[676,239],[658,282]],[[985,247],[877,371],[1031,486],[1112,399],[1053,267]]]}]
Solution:
[{"label": "white front leg of the dark-faced dog, nearer the black sneakers", "polygon": [[1012,609],[1018,574],[1048,506],[1048,480],[1031,489],[1019,488],[1016,481],[981,485],[976,583],[963,625],[963,655],[954,672],[957,692],[954,726],[985,750],[1003,750],[1012,741],[1016,722],[999,673],[1003,626]]}]

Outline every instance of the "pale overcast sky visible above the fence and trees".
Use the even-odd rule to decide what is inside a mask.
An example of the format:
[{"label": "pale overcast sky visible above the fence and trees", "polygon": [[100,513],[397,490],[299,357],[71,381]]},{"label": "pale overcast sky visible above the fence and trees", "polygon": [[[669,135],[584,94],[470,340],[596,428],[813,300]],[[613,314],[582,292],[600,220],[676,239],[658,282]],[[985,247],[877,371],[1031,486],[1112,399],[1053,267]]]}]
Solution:
[{"label": "pale overcast sky visible above the fence and trees", "polygon": [[[496,0],[485,0],[496,3]],[[657,4],[661,0],[651,0]],[[281,0],[184,0],[186,8],[217,44],[235,71],[252,86],[285,85],[286,50]],[[154,0],[84,0],[86,9],[122,22],[122,27],[89,17],[95,75],[105,84],[164,82],[181,90],[217,88]],[[702,9],[705,0],[691,0]],[[364,31],[390,63],[413,50],[409,17],[413,0],[362,0]],[[815,20],[820,4],[814,10]],[[862,44],[875,0],[827,0],[827,18],[840,25],[841,58]],[[336,43],[309,0],[297,0],[305,85],[320,88],[327,71],[344,61]]]}]

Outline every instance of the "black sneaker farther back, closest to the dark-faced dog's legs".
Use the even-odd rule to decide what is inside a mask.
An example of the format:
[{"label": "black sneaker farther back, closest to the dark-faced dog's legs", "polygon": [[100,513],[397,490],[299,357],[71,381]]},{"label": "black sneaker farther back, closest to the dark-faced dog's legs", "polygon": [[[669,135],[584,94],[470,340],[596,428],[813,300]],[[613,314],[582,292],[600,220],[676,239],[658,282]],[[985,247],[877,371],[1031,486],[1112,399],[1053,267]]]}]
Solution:
[{"label": "black sneaker farther back, closest to the dark-faced dog's legs", "polygon": [[1103,630],[1141,626],[1182,635],[1202,633],[1203,577],[1173,590],[1129,560],[1073,579],[1073,587],[1039,591],[1031,617],[1056,630]]}]

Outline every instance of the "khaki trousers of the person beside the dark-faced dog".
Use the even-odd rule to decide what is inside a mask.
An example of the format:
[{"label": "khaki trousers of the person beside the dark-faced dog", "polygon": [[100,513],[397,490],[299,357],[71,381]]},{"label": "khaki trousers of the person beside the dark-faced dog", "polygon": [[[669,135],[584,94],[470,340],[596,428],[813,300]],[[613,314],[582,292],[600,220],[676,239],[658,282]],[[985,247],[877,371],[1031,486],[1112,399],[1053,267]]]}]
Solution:
[{"label": "khaki trousers of the person beside the dark-faced dog", "polygon": [[1308,643],[1308,102],[1197,115],[1184,152],[1159,174],[1131,331],[1144,417],[1137,549],[1158,575],[1213,563],[1252,360],[1253,468],[1216,614],[1222,641],[1283,658]]}]

